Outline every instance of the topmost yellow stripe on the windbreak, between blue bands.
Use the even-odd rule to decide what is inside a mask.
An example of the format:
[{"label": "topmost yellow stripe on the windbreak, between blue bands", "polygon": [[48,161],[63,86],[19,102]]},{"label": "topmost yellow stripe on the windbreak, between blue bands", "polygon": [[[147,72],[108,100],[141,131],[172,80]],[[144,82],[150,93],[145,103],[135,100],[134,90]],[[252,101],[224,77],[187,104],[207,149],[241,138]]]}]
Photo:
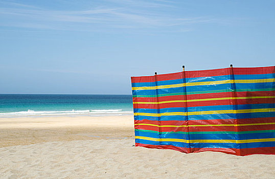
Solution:
[{"label": "topmost yellow stripe on the windbreak, between blue bands", "polygon": [[159,86],[143,86],[143,87],[132,87],[132,90],[163,89],[163,88],[171,88],[171,87],[184,87],[184,86],[197,86],[197,85],[216,85],[216,84],[226,84],[226,83],[266,83],[266,82],[275,82],[275,78],[256,79],[256,80],[204,81],[204,82],[179,83],[179,84],[168,84],[168,85],[159,85]]}]

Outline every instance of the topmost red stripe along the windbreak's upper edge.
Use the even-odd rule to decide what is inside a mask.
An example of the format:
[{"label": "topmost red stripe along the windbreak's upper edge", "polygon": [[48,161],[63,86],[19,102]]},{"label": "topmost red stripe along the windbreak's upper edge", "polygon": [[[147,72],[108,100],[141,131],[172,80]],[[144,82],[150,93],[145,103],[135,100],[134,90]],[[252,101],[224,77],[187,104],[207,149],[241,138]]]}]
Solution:
[{"label": "topmost red stripe along the windbreak's upper edge", "polygon": [[[275,73],[274,66],[258,67],[258,68],[233,68],[234,75],[254,75],[254,74],[270,74]],[[199,78],[230,75],[230,68],[215,69],[215,70],[200,70],[200,71],[186,71],[186,78]],[[140,82],[155,82],[165,80],[175,80],[184,78],[184,72],[162,74],[155,76],[131,77],[132,83]]]}]

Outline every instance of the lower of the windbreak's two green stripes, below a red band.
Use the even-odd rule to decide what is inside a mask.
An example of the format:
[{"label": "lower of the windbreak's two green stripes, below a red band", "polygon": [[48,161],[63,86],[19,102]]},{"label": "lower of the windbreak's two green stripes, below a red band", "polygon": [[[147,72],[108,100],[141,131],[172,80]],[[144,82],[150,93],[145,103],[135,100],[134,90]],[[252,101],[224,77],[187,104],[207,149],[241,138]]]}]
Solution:
[{"label": "lower of the windbreak's two green stripes, below a red band", "polygon": [[152,132],[152,133],[159,133],[159,134],[169,134],[169,133],[182,133],[185,135],[189,134],[244,134],[244,133],[268,133],[268,132],[275,132],[275,130],[252,130],[252,131],[199,131],[199,132],[158,132],[154,130],[142,130],[142,129],[134,129],[135,131],[141,132]]}]

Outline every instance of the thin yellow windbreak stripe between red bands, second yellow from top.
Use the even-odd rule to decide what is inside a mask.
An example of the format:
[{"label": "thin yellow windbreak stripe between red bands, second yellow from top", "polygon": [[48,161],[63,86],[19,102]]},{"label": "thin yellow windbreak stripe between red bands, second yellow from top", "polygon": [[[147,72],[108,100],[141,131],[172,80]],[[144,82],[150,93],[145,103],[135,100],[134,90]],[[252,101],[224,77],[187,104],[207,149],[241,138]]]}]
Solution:
[{"label": "thin yellow windbreak stripe between red bands, second yellow from top", "polygon": [[275,96],[224,97],[224,98],[172,100],[172,101],[159,101],[159,102],[133,102],[133,104],[164,104],[164,103],[195,102],[195,101],[216,101],[216,100],[228,100],[228,99],[265,99],[265,98],[275,98]]}]

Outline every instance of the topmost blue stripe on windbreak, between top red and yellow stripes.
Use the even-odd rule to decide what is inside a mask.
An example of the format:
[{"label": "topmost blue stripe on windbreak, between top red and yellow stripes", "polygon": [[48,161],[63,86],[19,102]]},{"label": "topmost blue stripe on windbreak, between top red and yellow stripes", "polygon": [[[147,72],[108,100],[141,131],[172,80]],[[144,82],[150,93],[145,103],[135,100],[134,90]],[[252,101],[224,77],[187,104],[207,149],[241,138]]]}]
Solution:
[{"label": "topmost blue stripe on windbreak, between top red and yellow stripes", "polygon": [[[191,82],[207,82],[207,81],[222,81],[228,79],[235,80],[251,80],[251,79],[271,79],[275,78],[275,74],[260,74],[260,75],[223,75],[223,76],[213,76],[213,77],[198,77],[198,78],[186,78],[187,83]],[[165,80],[156,81],[157,85],[170,85],[170,84],[180,84],[183,79],[176,80]],[[132,87],[144,87],[144,86],[155,86],[155,82],[137,82],[132,83]]]}]

